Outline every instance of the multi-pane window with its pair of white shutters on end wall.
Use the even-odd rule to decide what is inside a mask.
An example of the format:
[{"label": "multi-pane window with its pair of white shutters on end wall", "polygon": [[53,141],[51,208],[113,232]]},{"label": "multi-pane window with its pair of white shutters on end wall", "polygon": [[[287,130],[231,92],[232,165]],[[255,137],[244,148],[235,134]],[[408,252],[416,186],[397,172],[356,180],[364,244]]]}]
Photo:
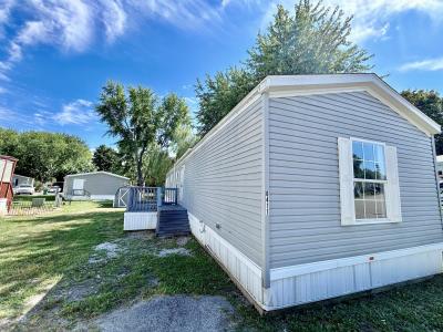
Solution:
[{"label": "multi-pane window with its pair of white shutters on end wall", "polygon": [[341,224],[401,221],[396,148],[339,137]]}]

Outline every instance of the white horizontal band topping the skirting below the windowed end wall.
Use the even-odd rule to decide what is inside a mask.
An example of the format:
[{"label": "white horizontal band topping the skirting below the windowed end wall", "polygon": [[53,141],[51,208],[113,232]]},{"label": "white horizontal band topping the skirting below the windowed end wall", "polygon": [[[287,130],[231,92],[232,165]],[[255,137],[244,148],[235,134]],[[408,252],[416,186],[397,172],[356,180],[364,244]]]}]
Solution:
[{"label": "white horizontal band topping the skirting below the windowed end wall", "polygon": [[404,256],[415,255],[420,252],[434,251],[434,250],[443,250],[443,242],[412,247],[406,249],[375,252],[369,255],[361,255],[349,258],[339,258],[332,260],[324,260],[312,263],[303,263],[298,266],[285,267],[285,268],[276,268],[270,270],[270,280],[279,280],[285,278],[291,278],[300,274],[308,274],[324,270],[331,270],[337,268],[343,268],[360,263],[368,263],[373,261],[381,261],[387,259],[400,258]]}]

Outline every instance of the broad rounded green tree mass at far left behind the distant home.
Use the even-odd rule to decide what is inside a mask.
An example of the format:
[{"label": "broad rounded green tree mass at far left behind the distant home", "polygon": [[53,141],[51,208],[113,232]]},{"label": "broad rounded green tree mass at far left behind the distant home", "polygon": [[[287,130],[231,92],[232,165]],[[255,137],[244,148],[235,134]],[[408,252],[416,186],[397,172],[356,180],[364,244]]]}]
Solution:
[{"label": "broad rounded green tree mass at far left behind the distant home", "polygon": [[66,134],[0,128],[0,154],[19,159],[17,174],[40,181],[61,180],[66,174],[93,168],[87,145]]}]

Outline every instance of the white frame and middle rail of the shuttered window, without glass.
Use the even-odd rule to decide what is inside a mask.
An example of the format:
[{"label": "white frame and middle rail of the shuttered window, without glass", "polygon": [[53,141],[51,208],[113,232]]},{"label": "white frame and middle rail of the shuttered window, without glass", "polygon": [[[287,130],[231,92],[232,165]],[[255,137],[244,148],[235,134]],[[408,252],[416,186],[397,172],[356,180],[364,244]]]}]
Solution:
[{"label": "white frame and middle rail of the shuttered window, without glass", "polygon": [[[361,142],[361,143],[371,143],[371,144],[377,144],[383,146],[383,158],[384,158],[384,173],[387,179],[381,180],[381,179],[364,179],[364,178],[356,178],[356,174],[353,172],[353,143],[354,142]],[[388,181],[390,180],[388,177],[388,160],[387,160],[387,144],[383,142],[378,142],[378,141],[370,141],[370,139],[364,139],[364,138],[358,138],[358,137],[350,137],[350,148],[351,148],[351,163],[352,163],[352,188],[354,188],[356,180],[359,183],[372,183],[372,184],[383,184],[383,191],[384,191],[384,209],[387,217],[384,218],[364,218],[364,219],[358,219],[356,215],[356,209],[354,209],[354,225],[365,225],[365,224],[388,224],[388,222],[396,222],[392,221],[388,217],[388,197],[387,197],[387,187],[388,187]],[[354,194],[352,193],[353,196],[353,205],[356,206],[356,197]]]}]

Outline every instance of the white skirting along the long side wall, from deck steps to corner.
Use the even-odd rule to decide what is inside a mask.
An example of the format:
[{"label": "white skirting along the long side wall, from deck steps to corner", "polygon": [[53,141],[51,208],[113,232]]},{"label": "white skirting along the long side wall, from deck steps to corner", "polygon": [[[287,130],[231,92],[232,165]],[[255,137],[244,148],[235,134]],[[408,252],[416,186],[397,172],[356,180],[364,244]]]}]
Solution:
[{"label": "white skirting along the long side wall, from deck steps to corner", "polygon": [[213,229],[188,212],[190,231],[257,303],[262,302],[261,269]]}]

